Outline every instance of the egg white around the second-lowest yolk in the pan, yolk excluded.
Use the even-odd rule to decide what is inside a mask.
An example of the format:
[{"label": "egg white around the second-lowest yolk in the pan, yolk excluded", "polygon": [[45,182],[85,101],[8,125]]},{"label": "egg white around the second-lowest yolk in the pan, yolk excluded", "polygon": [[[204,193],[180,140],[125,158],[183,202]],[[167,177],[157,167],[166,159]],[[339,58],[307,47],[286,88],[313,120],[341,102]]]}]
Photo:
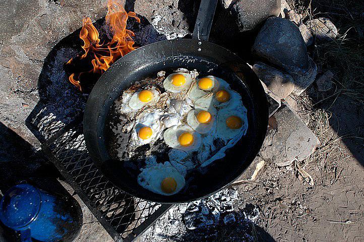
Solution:
[{"label": "egg white around the second-lowest yolk in the pan, yolk excluded", "polygon": [[[179,144],[178,137],[185,132],[189,132],[194,136],[194,143],[190,146],[181,146]],[[164,131],[163,139],[169,147],[184,151],[197,150],[201,145],[201,135],[189,126],[172,126]]]}]

